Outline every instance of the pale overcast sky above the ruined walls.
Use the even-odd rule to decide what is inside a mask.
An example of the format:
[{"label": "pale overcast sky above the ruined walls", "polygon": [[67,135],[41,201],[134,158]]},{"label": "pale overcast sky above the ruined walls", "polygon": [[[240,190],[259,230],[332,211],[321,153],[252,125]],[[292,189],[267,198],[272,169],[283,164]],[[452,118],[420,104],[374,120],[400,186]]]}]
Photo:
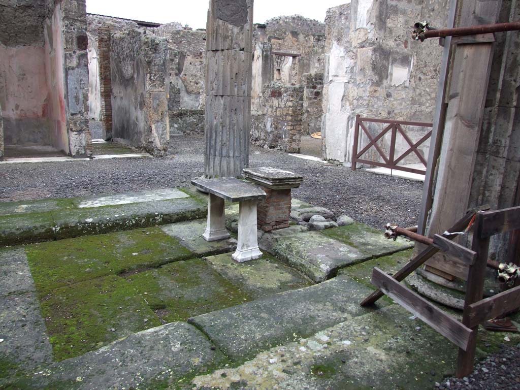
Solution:
[{"label": "pale overcast sky above the ruined walls", "polygon": [[[86,0],[87,12],[147,22],[188,24],[205,29],[209,0]],[[254,22],[275,16],[302,15],[325,21],[327,9],[350,0],[255,0]]]}]

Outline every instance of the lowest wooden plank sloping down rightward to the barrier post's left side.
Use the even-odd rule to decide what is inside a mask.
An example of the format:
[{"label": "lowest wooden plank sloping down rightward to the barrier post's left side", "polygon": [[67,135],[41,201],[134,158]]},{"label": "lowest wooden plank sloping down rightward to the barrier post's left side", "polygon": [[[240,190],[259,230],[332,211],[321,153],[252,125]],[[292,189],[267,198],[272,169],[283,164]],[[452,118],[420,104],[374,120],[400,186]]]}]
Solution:
[{"label": "lowest wooden plank sloping down rightward to the barrier post's left side", "polygon": [[374,268],[372,283],[399,305],[410,311],[453,344],[466,349],[473,331],[444,313],[443,310],[426,301],[419,294],[407,289],[397,280],[386,275],[381,269]]}]

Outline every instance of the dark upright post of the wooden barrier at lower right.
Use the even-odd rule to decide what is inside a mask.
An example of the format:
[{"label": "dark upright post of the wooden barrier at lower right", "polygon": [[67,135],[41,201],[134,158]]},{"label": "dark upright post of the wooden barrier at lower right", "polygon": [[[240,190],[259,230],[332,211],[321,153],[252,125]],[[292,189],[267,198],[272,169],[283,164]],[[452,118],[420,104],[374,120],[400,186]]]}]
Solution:
[{"label": "dark upright post of the wooden barrier at lower right", "polygon": [[480,238],[480,231],[483,226],[483,215],[478,213],[475,218],[473,230],[473,243],[471,249],[477,253],[475,264],[470,267],[466,283],[466,298],[464,301],[464,314],[462,323],[473,330],[470,336],[466,350],[459,349],[459,357],[457,363],[457,377],[463,378],[473,372],[475,349],[477,344],[478,324],[470,327],[471,309],[470,305],[482,300],[484,293],[484,278],[486,276],[486,266],[489,251],[489,237]]}]

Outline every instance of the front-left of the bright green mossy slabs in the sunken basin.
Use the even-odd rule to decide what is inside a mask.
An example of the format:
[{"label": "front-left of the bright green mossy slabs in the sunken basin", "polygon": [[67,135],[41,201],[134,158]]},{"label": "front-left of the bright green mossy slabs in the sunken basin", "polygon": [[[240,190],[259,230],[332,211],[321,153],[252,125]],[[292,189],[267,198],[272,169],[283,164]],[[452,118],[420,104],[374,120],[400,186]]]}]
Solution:
[{"label": "front-left of the bright green mossy slabs in the sunken basin", "polygon": [[41,307],[58,361],[161,324],[144,298],[114,275],[60,287]]}]

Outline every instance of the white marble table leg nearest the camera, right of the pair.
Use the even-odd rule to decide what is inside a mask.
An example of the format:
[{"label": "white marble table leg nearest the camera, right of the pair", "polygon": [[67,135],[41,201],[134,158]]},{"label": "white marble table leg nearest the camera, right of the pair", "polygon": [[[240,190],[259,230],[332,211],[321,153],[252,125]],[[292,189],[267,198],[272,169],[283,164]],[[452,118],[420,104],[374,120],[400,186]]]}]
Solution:
[{"label": "white marble table leg nearest the camera, right of the pair", "polygon": [[258,236],[256,232],[256,203],[257,200],[245,200],[240,202],[238,215],[238,245],[237,250],[231,256],[239,263],[257,259],[262,256],[258,248]]}]

